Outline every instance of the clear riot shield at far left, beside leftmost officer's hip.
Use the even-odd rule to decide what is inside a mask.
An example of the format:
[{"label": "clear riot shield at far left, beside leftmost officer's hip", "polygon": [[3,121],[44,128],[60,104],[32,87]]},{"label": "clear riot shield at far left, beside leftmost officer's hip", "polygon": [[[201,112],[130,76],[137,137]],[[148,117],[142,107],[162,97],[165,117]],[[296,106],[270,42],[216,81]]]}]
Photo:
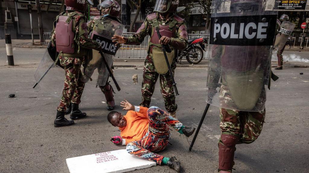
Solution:
[{"label": "clear riot shield at far left, beside leftmost officer's hip", "polygon": [[45,54],[36,69],[34,78],[36,82],[49,94],[59,97],[62,95],[64,86],[65,72],[64,70],[54,63],[49,55],[49,50],[46,49]]}]

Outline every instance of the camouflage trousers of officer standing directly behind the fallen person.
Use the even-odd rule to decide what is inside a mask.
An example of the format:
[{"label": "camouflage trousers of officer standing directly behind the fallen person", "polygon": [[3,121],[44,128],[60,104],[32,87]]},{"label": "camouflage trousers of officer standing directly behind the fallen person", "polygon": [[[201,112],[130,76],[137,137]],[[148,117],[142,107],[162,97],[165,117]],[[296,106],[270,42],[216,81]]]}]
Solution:
[{"label": "camouflage trousers of officer standing directly behind the fallen person", "polygon": [[[171,69],[174,75],[176,68],[176,62],[172,62]],[[173,82],[169,73],[159,74],[155,71],[155,65],[150,56],[145,59],[143,82],[142,82],[142,102],[140,106],[149,107],[151,102],[151,96],[155,91],[155,83],[160,77],[160,89],[164,99],[164,104],[167,112],[175,112],[177,110],[177,104],[175,103]]]}]

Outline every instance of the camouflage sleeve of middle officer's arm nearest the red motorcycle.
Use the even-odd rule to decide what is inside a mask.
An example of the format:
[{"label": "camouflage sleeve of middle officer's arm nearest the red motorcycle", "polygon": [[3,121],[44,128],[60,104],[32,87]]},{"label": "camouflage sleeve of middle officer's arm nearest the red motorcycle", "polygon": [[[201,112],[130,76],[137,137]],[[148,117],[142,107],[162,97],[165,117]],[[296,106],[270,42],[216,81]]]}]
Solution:
[{"label": "camouflage sleeve of middle officer's arm nearest the red motorcycle", "polygon": [[177,38],[171,38],[171,42],[169,43],[169,45],[178,50],[184,50],[188,44],[188,33],[185,23],[179,26],[176,35]]}]

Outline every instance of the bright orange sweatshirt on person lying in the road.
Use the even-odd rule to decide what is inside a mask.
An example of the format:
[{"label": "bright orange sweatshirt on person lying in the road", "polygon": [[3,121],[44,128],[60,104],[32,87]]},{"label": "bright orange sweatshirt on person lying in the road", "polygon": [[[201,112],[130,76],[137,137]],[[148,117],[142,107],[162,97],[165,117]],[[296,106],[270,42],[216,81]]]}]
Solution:
[{"label": "bright orange sweatshirt on person lying in the road", "polygon": [[140,106],[139,112],[128,111],[124,116],[127,120],[125,127],[119,127],[120,136],[125,139],[125,145],[133,141],[138,141],[146,135],[148,131],[147,107]]}]

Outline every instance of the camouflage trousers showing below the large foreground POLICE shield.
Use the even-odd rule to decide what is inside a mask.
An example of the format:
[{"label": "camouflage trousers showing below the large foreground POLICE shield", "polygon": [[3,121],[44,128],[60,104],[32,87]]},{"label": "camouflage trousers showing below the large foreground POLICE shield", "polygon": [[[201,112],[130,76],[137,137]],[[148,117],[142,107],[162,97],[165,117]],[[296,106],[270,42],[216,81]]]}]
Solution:
[{"label": "camouflage trousers showing below the large foreground POLICE shield", "polygon": [[220,108],[220,119],[222,134],[239,136],[239,143],[248,144],[254,142],[262,131],[265,109],[249,112]]}]

